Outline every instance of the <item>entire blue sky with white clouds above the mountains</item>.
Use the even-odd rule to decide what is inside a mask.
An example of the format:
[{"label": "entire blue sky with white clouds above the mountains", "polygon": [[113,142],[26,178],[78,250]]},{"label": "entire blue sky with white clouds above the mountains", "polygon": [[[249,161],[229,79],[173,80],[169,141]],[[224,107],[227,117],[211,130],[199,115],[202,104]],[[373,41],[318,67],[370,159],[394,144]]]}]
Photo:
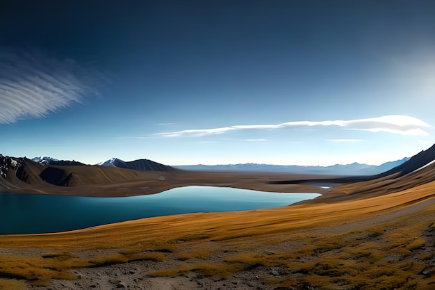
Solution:
[{"label": "entire blue sky with white clouds above the mountains", "polygon": [[0,2],[0,153],[379,165],[435,143],[435,1]]}]

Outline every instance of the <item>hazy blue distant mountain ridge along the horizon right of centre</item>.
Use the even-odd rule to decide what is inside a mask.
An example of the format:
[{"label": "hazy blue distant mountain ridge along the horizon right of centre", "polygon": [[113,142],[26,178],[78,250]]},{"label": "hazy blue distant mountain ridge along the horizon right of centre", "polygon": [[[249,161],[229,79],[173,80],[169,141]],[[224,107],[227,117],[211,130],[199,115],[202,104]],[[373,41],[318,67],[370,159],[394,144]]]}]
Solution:
[{"label": "hazy blue distant mountain ridge along the horizon right of centre", "polygon": [[351,164],[336,164],[333,166],[280,166],[271,164],[258,163],[243,163],[243,164],[221,164],[216,166],[208,166],[204,164],[192,166],[173,166],[174,168],[183,170],[199,170],[199,171],[258,171],[258,172],[291,172],[291,173],[306,173],[306,174],[331,174],[331,175],[377,175],[400,166],[402,163],[409,160],[409,157],[397,161],[389,161],[380,166],[351,163]]}]

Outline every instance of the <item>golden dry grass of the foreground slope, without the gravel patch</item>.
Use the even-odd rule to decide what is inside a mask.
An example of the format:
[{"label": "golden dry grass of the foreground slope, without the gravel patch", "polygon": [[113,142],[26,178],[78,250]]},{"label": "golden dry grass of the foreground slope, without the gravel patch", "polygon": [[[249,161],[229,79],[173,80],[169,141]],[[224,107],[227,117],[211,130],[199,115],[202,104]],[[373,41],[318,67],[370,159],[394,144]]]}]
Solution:
[{"label": "golden dry grass of the foreground slope, without the gravel patch", "polygon": [[[231,180],[221,185],[234,186]],[[352,195],[351,189],[335,195]],[[361,200],[0,236],[0,289],[74,280],[76,268],[129,261],[163,265],[147,273],[150,278],[197,273],[228,279],[270,268],[277,275],[258,277],[268,289],[304,283],[318,289],[434,289],[434,221],[435,182],[429,182]]]}]

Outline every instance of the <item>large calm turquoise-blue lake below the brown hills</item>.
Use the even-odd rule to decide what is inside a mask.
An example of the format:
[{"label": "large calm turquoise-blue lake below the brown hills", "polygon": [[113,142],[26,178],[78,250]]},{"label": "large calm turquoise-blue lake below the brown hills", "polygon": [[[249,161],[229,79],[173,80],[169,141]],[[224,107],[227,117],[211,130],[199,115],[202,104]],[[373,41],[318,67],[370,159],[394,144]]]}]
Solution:
[{"label": "large calm turquoise-blue lake below the brown hills", "polygon": [[213,186],[186,186],[126,198],[0,193],[0,234],[64,232],[173,214],[270,209],[318,196]]}]

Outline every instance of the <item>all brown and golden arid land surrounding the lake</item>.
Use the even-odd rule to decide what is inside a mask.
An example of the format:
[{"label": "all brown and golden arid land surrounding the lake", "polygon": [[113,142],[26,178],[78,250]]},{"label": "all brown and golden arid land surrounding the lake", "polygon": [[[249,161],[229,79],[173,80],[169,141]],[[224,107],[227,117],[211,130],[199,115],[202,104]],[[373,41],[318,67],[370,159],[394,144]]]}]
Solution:
[{"label": "all brown and golden arid land surrounding the lake", "polygon": [[363,179],[53,166],[68,177],[59,186],[27,161],[20,178],[0,179],[2,191],[124,196],[209,185],[322,196],[279,209],[0,236],[0,289],[434,289],[432,150]]}]

